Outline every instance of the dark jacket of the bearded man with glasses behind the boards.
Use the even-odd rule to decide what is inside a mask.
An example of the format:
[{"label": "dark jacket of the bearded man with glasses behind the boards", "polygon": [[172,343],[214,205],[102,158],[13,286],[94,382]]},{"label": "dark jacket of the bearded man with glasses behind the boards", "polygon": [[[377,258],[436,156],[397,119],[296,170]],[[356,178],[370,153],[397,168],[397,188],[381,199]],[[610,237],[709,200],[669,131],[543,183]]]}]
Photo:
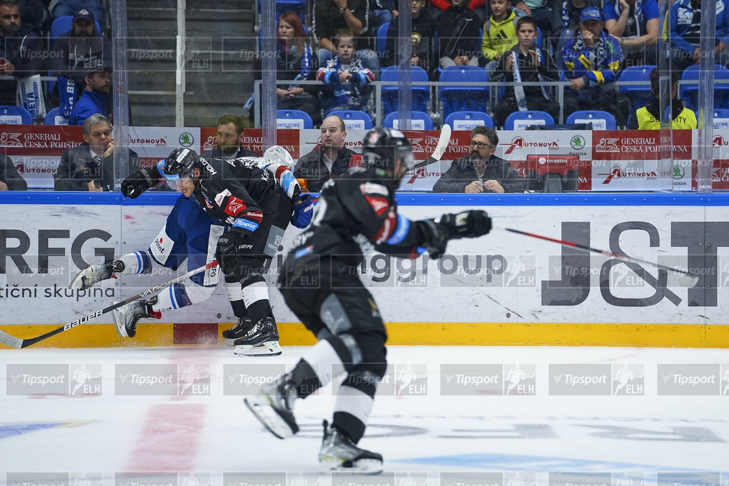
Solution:
[{"label": "dark jacket of the bearded man with glasses behind the boards", "polygon": [[[519,175],[511,164],[496,155],[486,162],[483,169],[483,180],[494,179],[504,187],[504,192],[522,192],[526,190],[526,179]],[[433,186],[435,192],[465,192],[466,186],[478,180],[476,166],[468,157],[453,160],[451,167],[445,171]],[[486,191],[492,192],[492,191]]]}]

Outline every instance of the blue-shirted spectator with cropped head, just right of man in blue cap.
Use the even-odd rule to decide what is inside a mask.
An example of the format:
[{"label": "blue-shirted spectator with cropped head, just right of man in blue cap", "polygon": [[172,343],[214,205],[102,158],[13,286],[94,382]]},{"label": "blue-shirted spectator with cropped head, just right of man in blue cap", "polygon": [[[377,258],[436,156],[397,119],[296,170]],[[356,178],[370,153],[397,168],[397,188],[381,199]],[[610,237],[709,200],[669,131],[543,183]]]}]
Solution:
[{"label": "blue-shirted spectator with cropped head, just right of man in blue cap", "polygon": [[606,0],[605,28],[623,50],[626,66],[655,64],[658,44],[658,2]]}]

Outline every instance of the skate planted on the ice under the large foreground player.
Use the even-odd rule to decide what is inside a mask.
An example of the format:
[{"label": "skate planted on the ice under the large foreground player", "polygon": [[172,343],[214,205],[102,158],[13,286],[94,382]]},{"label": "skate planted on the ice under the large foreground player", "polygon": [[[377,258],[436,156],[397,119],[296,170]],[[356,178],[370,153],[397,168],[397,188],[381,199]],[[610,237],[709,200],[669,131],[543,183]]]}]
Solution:
[{"label": "skate planted on the ice under the large foreground player", "polygon": [[319,450],[320,471],[346,471],[354,474],[382,472],[382,455],[360,449],[347,434],[324,420],[324,439]]}]

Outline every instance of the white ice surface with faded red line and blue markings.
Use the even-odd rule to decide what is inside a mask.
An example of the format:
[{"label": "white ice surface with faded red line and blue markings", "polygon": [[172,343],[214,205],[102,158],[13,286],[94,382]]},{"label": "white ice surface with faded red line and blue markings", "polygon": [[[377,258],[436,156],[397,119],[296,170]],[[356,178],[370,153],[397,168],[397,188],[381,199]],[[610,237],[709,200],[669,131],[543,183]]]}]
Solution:
[{"label": "white ice surface with faded red line and blue markings", "polygon": [[385,472],[353,480],[315,472],[332,385],[284,441],[243,406],[303,350],[1,350],[0,482],[729,486],[729,350],[389,347],[359,443]]}]

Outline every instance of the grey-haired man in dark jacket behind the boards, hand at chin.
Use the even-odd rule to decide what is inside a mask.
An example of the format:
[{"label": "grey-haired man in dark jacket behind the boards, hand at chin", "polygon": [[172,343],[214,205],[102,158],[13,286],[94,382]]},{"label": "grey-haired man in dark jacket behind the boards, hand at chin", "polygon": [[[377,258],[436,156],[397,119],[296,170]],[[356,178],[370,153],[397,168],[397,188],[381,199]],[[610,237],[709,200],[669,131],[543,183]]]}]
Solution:
[{"label": "grey-haired man in dark jacket behind the boards, hand at chin", "polygon": [[[121,181],[114,181],[114,141],[112,122],[103,114],[93,114],[82,125],[85,142],[68,149],[61,156],[58,173],[53,175],[56,191],[114,191]],[[117,149],[119,150],[119,149]],[[139,169],[136,152],[123,149],[129,170]]]}]

